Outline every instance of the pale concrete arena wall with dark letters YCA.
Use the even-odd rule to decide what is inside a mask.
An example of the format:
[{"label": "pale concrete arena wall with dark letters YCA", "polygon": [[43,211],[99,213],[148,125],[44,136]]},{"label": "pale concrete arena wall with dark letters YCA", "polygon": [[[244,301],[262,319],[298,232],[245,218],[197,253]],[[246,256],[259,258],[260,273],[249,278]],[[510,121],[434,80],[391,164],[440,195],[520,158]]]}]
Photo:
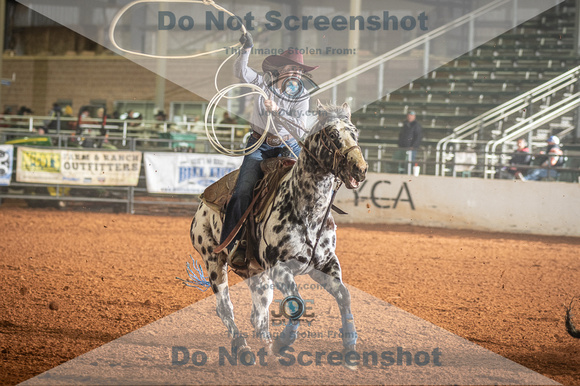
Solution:
[{"label": "pale concrete arena wall with dark letters YCA", "polygon": [[370,173],[337,222],[580,236],[580,184]]}]

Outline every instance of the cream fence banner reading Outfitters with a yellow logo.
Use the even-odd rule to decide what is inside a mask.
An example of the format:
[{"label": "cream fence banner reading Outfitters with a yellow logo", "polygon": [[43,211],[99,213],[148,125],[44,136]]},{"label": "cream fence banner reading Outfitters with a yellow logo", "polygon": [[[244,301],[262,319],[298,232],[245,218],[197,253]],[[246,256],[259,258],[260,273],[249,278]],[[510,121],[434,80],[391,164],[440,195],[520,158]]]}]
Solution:
[{"label": "cream fence banner reading Outfitters with a yellow logo", "polygon": [[16,180],[46,184],[136,186],[140,171],[140,152],[20,147]]}]

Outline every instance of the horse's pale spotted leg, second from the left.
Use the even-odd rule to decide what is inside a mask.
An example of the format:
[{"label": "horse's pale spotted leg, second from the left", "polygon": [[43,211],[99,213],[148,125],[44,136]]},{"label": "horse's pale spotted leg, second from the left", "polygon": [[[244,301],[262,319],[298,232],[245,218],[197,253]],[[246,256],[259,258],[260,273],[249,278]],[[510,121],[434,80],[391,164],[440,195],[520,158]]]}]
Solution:
[{"label": "horse's pale spotted leg, second from the left", "polygon": [[271,343],[268,311],[274,298],[274,286],[265,272],[250,277],[247,283],[252,294],[251,321],[254,326],[254,334],[264,343]]}]

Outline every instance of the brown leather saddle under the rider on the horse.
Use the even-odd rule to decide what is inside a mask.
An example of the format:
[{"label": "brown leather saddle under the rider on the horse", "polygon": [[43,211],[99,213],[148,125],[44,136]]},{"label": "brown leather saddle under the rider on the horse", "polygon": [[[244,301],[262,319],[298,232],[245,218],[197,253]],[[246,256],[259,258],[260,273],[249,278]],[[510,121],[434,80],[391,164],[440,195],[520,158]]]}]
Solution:
[{"label": "brown leather saddle under the rider on the horse", "polygon": [[[268,158],[260,164],[264,177],[258,181],[254,188],[254,196],[250,207],[244,213],[242,219],[236,225],[236,228],[228,236],[224,243],[229,244],[229,240],[241,231],[246,224],[246,231],[243,239],[246,240],[246,260],[255,262],[254,251],[256,250],[255,225],[263,221],[268,212],[270,204],[274,201],[274,196],[282,179],[288,174],[294,166],[296,160],[287,157]],[[219,181],[208,186],[201,194],[200,199],[210,208],[225,215],[228,202],[230,201],[236,181],[238,180],[239,169],[225,175]],[[250,221],[247,221],[250,219]],[[219,253],[222,249],[216,248],[215,252]]]}]

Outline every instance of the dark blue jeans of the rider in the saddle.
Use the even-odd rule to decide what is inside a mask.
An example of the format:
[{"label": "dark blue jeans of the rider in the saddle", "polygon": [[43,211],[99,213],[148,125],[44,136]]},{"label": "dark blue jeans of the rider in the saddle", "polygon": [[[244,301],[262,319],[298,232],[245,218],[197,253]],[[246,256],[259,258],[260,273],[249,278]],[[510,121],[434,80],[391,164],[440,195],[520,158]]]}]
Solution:
[{"label": "dark blue jeans of the rider in the saddle", "polygon": [[[246,149],[254,145],[257,141],[256,138],[250,136]],[[292,148],[294,154],[297,156],[300,154],[300,146],[296,140],[291,139],[286,143],[288,143]],[[252,202],[254,187],[256,186],[256,183],[264,177],[264,173],[260,168],[260,163],[265,159],[278,156],[291,157],[292,153],[290,153],[283,144],[277,147],[272,147],[264,142],[256,151],[244,157],[244,162],[242,162],[242,166],[240,167],[240,174],[238,175],[234,193],[226,208],[226,218],[222,228],[220,244],[228,238],[230,233],[232,233],[236,224],[240,221],[244,212]],[[234,243],[240,239],[241,233],[242,232],[238,232],[236,237],[234,237],[228,244],[228,250],[231,250]]]}]

